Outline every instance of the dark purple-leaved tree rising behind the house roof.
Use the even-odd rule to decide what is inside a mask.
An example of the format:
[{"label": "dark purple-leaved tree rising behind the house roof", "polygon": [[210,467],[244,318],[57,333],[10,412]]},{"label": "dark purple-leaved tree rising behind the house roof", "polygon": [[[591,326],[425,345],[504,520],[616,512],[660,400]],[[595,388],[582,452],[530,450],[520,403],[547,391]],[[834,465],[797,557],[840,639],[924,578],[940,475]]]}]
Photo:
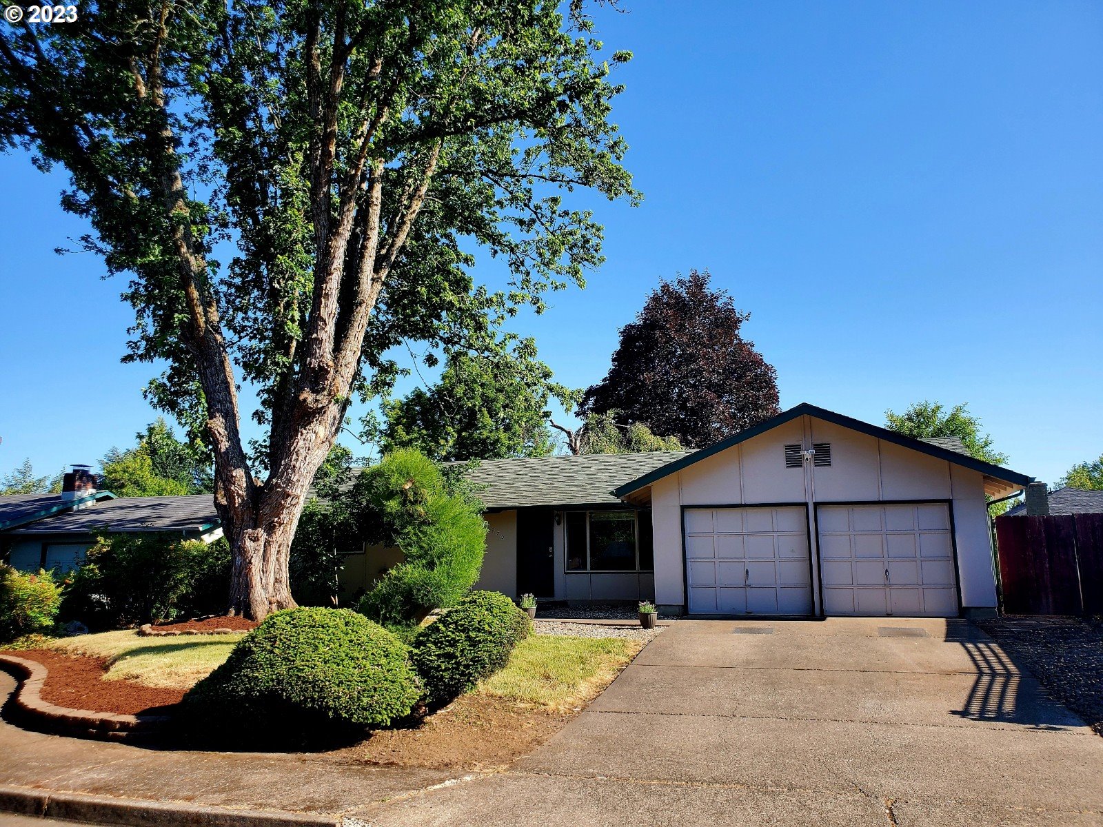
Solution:
[{"label": "dark purple-leaved tree rising behind the house roof", "polygon": [[690,270],[653,290],[620,332],[612,367],[582,395],[582,414],[617,411],[621,425],[702,448],[778,412],[778,374],[743,339],[750,318]]}]

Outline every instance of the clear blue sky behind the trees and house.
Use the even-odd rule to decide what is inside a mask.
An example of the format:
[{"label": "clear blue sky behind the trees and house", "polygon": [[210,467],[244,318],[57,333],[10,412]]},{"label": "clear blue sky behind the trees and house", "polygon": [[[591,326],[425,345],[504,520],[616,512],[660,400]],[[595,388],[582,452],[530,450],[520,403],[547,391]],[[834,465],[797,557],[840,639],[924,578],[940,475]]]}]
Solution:
[{"label": "clear blue sky behind the trees and house", "polygon": [[[622,8],[600,34],[635,54],[613,119],[643,205],[583,200],[607,264],[515,325],[560,382],[599,379],[645,293],[707,267],[783,407],[965,401],[1048,482],[1103,452],[1103,6]],[[64,183],[0,155],[0,474],[95,462],[157,416],[151,367],[119,364],[121,278],[53,253],[86,230]]]}]

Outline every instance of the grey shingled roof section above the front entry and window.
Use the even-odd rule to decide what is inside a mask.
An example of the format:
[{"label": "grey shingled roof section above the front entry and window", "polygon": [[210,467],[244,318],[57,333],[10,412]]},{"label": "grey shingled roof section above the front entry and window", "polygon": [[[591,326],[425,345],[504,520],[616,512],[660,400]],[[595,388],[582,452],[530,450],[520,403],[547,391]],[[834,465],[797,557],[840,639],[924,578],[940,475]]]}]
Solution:
[{"label": "grey shingled roof section above the front entry and window", "polygon": [[611,493],[614,487],[690,453],[646,451],[483,460],[465,475],[489,509],[622,505]]}]

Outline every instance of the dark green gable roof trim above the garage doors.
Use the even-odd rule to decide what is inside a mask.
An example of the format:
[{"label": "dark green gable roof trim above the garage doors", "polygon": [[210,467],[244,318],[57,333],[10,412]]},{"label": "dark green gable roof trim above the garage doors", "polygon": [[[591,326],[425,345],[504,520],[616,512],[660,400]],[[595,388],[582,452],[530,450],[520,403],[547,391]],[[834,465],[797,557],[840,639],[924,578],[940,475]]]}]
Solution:
[{"label": "dark green gable roof trim above the garage doors", "polygon": [[[938,444],[933,441],[912,439],[911,437],[906,437],[902,433],[897,433],[896,431],[890,431],[886,428],[870,425],[869,422],[863,422],[860,419],[854,419],[842,414],[836,414],[833,410],[827,410],[826,408],[818,408],[815,405],[801,402],[795,408],[782,411],[778,416],[771,417],[753,428],[748,428],[739,433],[728,437],[727,439],[720,440],[716,444],[703,448],[699,451],[694,451],[682,459],[675,460],[661,468],[656,468],[653,471],[642,474],[631,482],[623,483],[613,491],[613,494],[618,497],[627,496],[634,491],[639,491],[651,485],[657,480],[662,480],[664,476],[668,476],[670,474],[688,468],[694,463],[700,462],[713,454],[725,451],[732,445],[738,445],[740,442],[746,442],[752,437],[758,437],[760,433],[765,433],[780,425],[784,425],[785,422],[803,416],[815,417],[816,419],[822,419],[826,422],[849,428],[870,437],[877,437],[886,442],[892,442],[895,444],[902,445],[903,448],[910,448],[913,451],[919,451],[920,453],[925,453],[936,459],[945,460],[946,462],[963,465],[964,468],[972,469],[973,471],[979,471],[985,476],[986,490],[992,487],[994,491],[998,491],[999,483],[1003,483],[1003,487],[1006,488],[1008,485],[1024,486],[1027,483],[1034,482],[1032,476],[1027,476],[1026,474],[1020,474],[1017,471],[1011,471],[1010,469],[1000,468],[999,465],[993,465],[989,462],[974,459],[967,453],[962,453],[956,449],[956,447],[950,448],[945,444]],[[945,440],[947,438],[941,439]],[[962,445],[962,448],[964,448],[964,445]]]}]

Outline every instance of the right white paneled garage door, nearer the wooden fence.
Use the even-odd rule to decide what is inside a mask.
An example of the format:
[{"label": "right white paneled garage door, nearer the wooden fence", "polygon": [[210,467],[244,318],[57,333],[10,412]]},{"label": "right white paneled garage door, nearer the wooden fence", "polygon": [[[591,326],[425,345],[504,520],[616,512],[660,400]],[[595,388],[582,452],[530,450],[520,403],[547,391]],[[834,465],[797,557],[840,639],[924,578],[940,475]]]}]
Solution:
[{"label": "right white paneled garage door, nearer the wooden fence", "polygon": [[824,614],[957,614],[949,506],[824,505],[816,523]]}]

